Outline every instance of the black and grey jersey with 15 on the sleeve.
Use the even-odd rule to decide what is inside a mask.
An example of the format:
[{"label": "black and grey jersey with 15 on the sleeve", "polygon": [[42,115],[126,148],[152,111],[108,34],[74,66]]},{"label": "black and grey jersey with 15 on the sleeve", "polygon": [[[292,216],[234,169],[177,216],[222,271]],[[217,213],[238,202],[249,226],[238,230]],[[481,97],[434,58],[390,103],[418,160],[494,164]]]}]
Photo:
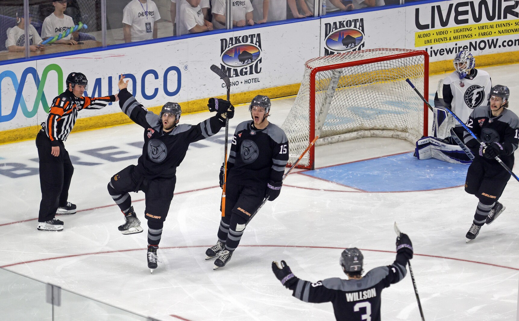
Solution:
[{"label": "black and grey jersey with 15 on the sleeve", "polygon": [[267,182],[281,182],[289,160],[285,132],[273,123],[254,128],[252,120],[241,122],[233,136],[227,160],[227,183],[265,188]]}]

